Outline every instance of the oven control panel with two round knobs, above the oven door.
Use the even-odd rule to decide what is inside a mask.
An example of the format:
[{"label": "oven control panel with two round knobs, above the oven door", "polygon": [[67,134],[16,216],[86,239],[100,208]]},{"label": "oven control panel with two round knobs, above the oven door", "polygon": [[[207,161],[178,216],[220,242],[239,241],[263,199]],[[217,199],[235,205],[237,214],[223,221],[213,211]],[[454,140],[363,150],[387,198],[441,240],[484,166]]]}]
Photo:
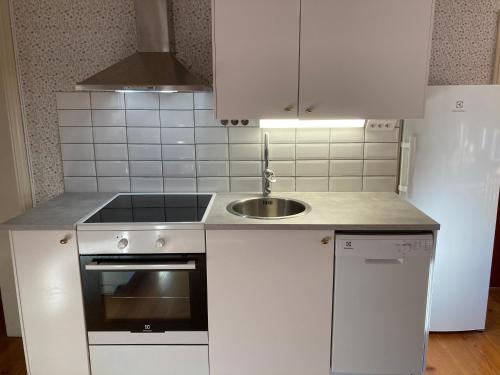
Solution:
[{"label": "oven control panel with two round knobs, above the oven door", "polygon": [[[127,240],[127,246],[118,247],[119,241]],[[164,245],[158,247],[162,239]],[[204,253],[205,231],[201,229],[174,230],[106,230],[78,232],[80,254],[154,254],[154,253]]]}]

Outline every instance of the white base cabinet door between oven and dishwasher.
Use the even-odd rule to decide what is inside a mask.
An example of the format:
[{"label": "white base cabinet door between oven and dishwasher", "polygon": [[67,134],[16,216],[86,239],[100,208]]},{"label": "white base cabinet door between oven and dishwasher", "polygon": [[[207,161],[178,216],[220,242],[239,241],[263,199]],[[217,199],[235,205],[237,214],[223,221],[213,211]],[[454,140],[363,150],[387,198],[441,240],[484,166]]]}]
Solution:
[{"label": "white base cabinet door between oven and dishwasher", "polygon": [[[207,231],[210,373],[329,375],[331,231]],[[326,241],[325,241],[326,242]]]}]

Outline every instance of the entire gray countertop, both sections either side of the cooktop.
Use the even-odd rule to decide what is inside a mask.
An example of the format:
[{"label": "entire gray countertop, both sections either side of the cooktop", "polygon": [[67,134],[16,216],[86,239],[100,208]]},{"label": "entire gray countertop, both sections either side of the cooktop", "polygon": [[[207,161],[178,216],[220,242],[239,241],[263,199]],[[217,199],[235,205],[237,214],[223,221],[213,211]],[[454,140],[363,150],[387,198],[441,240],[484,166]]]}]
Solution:
[{"label": "entire gray countertop, both sections either side of the cooktop", "polygon": [[[115,193],[64,193],[3,224],[0,229],[71,230]],[[276,193],[308,203],[311,211],[280,220],[239,217],[226,207],[232,201],[258,197],[252,193],[218,193],[209,207],[206,229],[335,229],[355,231],[437,230],[439,224],[394,193]]]}]

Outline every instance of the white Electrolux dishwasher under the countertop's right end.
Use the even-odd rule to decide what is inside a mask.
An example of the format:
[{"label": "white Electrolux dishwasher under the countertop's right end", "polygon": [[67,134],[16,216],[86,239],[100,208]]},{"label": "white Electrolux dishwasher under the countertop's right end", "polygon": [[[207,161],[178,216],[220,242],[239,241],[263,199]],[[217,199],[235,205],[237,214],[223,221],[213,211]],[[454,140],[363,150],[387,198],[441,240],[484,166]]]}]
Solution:
[{"label": "white Electrolux dishwasher under the countertop's right end", "polygon": [[334,375],[421,375],[428,339],[432,234],[339,234]]}]

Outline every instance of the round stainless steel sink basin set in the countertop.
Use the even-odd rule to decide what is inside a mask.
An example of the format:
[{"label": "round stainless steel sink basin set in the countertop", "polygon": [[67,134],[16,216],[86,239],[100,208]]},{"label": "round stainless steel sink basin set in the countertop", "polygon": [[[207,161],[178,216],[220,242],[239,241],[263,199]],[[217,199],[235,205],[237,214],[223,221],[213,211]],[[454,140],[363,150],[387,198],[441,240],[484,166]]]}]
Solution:
[{"label": "round stainless steel sink basin set in the countertop", "polygon": [[227,210],[251,219],[285,219],[304,215],[311,211],[311,207],[294,199],[261,197],[231,202]]}]

